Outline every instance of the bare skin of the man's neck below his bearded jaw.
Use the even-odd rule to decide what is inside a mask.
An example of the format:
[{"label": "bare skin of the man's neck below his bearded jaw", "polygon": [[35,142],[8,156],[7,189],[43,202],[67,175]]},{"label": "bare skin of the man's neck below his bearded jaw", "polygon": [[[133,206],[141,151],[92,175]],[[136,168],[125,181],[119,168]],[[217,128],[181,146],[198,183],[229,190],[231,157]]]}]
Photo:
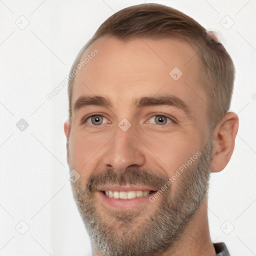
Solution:
[{"label": "bare skin of the man's neck below his bearded jaw", "polygon": [[[104,256],[91,241],[92,256]],[[147,256],[215,256],[216,252],[210,239],[207,217],[207,197],[188,221],[182,236],[167,251]]]}]

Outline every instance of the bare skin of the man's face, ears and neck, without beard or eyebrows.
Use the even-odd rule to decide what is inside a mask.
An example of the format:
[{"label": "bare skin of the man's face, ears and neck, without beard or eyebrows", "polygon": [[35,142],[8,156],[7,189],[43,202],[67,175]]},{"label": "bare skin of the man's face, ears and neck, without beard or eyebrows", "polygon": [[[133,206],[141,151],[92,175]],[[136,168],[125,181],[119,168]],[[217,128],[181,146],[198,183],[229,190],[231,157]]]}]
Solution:
[{"label": "bare skin of the man's face, ears and neck, without beard or eyebrows", "polygon": [[[77,186],[79,184],[81,188],[85,188],[93,173],[103,173],[107,168],[119,175],[126,175],[133,167],[135,170],[143,169],[149,175],[155,174],[167,179],[198,150],[202,152],[209,141],[211,158],[208,165],[211,172],[221,171],[226,166],[234,149],[238,117],[234,112],[227,112],[215,128],[209,130],[205,103],[208,102],[208,95],[200,81],[201,62],[195,55],[196,49],[173,38],[137,38],[124,42],[114,37],[101,37],[83,55],[86,56],[94,48],[99,52],[75,75],[71,99],[72,119],[64,123],[67,162],[70,169],[75,169],[80,174]],[[183,73],[176,81],[169,75],[175,66]],[[174,106],[155,105],[138,109],[132,104],[134,97],[164,93],[182,99],[191,111],[191,118]],[[81,95],[106,97],[113,106],[89,105],[74,112],[73,104]],[[91,119],[80,123],[85,115],[94,113],[105,117],[103,124],[95,127],[90,122]],[[156,123],[154,117],[159,113],[174,117],[176,122],[168,120],[167,124]],[[131,127],[125,132],[118,127],[123,118],[131,123]],[[189,168],[190,172],[194,166],[192,164]],[[141,224],[145,226],[146,222],[143,221],[149,220],[163,205],[164,198],[170,202],[171,198],[182,193],[182,182],[188,173],[184,172],[171,184],[172,192],[166,190],[153,203],[147,202],[126,212],[127,218],[132,216],[132,220],[129,220],[133,221],[133,232],[138,232]],[[72,188],[74,193],[75,185]],[[86,193],[82,195],[86,196]],[[82,198],[81,195],[80,197]],[[122,232],[127,232],[114,220],[114,216],[121,216],[121,213],[117,210],[115,215],[109,214],[114,209],[106,208],[96,191],[90,200],[90,205],[93,204],[94,210],[106,224],[116,225],[116,235],[121,237]],[[207,194],[194,214],[184,223],[182,235],[174,239],[165,251],[155,255],[215,255],[209,236],[206,205]],[[140,215],[134,212],[140,212]],[[127,239],[128,237],[131,238],[127,236]],[[105,255],[92,238],[91,246],[92,255]]]}]

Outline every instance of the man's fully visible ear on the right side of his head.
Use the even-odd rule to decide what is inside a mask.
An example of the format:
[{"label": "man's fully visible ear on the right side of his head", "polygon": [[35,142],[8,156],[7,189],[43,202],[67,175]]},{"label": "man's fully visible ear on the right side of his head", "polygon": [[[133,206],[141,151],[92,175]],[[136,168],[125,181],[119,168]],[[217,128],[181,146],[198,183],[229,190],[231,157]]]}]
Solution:
[{"label": "man's fully visible ear on the right side of his head", "polygon": [[239,119],[236,113],[227,112],[213,130],[211,171],[224,169],[234,150]]}]

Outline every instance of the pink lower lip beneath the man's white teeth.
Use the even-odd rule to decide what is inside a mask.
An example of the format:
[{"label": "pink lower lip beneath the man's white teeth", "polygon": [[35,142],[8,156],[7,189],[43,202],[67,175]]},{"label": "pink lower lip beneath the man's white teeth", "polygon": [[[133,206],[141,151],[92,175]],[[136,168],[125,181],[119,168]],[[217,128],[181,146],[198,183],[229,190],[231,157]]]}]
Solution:
[{"label": "pink lower lip beneath the man's white teeth", "polygon": [[156,192],[157,191],[152,192],[151,194],[148,194],[148,195],[135,197],[132,199],[121,199],[121,198],[109,197],[109,196],[106,196],[103,191],[97,191],[104,206],[108,206],[108,207],[110,206],[110,207],[119,208],[119,209],[134,208],[146,202],[151,202],[149,200],[149,197],[154,196]]}]

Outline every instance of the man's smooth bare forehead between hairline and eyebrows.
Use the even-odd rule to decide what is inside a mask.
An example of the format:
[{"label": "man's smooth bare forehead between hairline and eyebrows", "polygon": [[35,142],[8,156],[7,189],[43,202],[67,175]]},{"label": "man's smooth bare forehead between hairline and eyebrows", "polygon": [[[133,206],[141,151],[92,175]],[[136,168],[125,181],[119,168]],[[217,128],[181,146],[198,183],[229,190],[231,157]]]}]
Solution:
[{"label": "man's smooth bare forehead between hairline and eyebrows", "polygon": [[81,61],[73,83],[72,108],[81,95],[100,95],[118,107],[131,106],[134,98],[170,93],[206,114],[197,49],[180,39],[123,41],[103,36],[89,46]]}]

